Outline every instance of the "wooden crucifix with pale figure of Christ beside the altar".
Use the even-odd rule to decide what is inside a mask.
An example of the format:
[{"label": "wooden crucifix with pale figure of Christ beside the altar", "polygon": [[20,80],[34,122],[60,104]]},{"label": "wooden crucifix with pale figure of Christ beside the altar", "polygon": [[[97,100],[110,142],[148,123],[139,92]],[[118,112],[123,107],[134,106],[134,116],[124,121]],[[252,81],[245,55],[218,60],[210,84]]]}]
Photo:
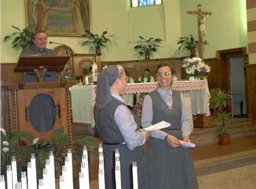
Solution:
[{"label": "wooden crucifix with pale figure of Christ beside the altar", "polygon": [[188,11],[188,14],[198,16],[198,50],[199,57],[203,58],[203,38],[205,34],[206,16],[211,15],[211,12],[202,11],[202,7],[198,4],[198,11]]}]

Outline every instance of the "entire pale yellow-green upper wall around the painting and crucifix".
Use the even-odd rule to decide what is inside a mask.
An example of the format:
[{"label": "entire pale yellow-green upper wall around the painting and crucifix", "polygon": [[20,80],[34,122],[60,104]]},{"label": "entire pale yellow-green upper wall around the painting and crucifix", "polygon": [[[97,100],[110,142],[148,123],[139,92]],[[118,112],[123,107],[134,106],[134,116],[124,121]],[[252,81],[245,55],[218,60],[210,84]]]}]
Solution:
[{"label": "entire pale yellow-green upper wall around the painting and crucifix", "polygon": [[[211,11],[207,18],[204,58],[215,57],[216,50],[246,47],[246,7],[245,0],[165,0],[164,5],[145,8],[131,8],[129,0],[91,0],[92,31],[114,34],[113,45],[102,55],[103,61],[138,60],[133,47],[138,35],[145,38],[162,38],[160,51],[152,58],[179,57],[187,52],[177,51],[176,40],[187,34],[197,34],[197,20],[186,14],[196,10],[201,3],[203,10]],[[10,25],[25,27],[25,1],[1,1],[1,62],[17,62],[21,51],[3,43],[3,37],[14,31]],[[14,14],[15,13],[15,14]],[[153,19],[153,23],[149,21]],[[74,53],[89,53],[81,47],[82,38],[49,37],[49,41],[62,42],[71,47]],[[52,49],[56,45],[48,45]]]}]

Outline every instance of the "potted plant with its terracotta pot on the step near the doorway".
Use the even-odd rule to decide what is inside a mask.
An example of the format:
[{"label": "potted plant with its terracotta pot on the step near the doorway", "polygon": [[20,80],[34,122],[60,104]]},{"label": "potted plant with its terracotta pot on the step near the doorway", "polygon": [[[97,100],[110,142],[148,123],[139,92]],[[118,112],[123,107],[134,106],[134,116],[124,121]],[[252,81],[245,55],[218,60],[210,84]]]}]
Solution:
[{"label": "potted plant with its terracotta pot on the step near the doorway", "polygon": [[219,131],[220,131],[220,144],[226,145],[230,144],[230,135],[227,131],[226,123],[230,119],[230,113],[226,112],[226,105],[228,105],[228,100],[231,99],[231,95],[220,90],[217,90],[217,94],[213,99],[215,105],[214,110],[217,112],[217,118],[219,121]]}]

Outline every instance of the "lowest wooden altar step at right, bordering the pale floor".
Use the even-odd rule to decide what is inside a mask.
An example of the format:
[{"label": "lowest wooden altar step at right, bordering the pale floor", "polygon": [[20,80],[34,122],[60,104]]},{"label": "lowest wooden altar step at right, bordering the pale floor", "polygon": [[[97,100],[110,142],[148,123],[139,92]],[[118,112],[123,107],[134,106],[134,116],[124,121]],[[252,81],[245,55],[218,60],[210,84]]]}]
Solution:
[{"label": "lowest wooden altar step at right, bordering the pale floor", "polygon": [[191,150],[198,176],[225,171],[231,168],[256,164],[256,137],[233,140],[230,145],[218,144]]}]

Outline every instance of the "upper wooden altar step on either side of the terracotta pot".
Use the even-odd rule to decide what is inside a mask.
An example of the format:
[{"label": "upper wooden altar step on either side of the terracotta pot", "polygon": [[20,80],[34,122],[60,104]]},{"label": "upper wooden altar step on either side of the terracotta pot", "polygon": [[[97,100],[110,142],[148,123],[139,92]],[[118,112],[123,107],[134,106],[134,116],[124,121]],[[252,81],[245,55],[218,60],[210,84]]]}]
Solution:
[{"label": "upper wooden altar step on either side of the terracotta pot", "polygon": [[[217,123],[216,120],[215,123]],[[253,125],[251,118],[232,118],[228,123],[228,133],[231,134],[231,140],[246,136],[256,136],[256,125]],[[195,142],[197,147],[218,144],[219,131],[217,124],[215,124],[215,127],[194,128],[190,138],[191,141]]]}]

